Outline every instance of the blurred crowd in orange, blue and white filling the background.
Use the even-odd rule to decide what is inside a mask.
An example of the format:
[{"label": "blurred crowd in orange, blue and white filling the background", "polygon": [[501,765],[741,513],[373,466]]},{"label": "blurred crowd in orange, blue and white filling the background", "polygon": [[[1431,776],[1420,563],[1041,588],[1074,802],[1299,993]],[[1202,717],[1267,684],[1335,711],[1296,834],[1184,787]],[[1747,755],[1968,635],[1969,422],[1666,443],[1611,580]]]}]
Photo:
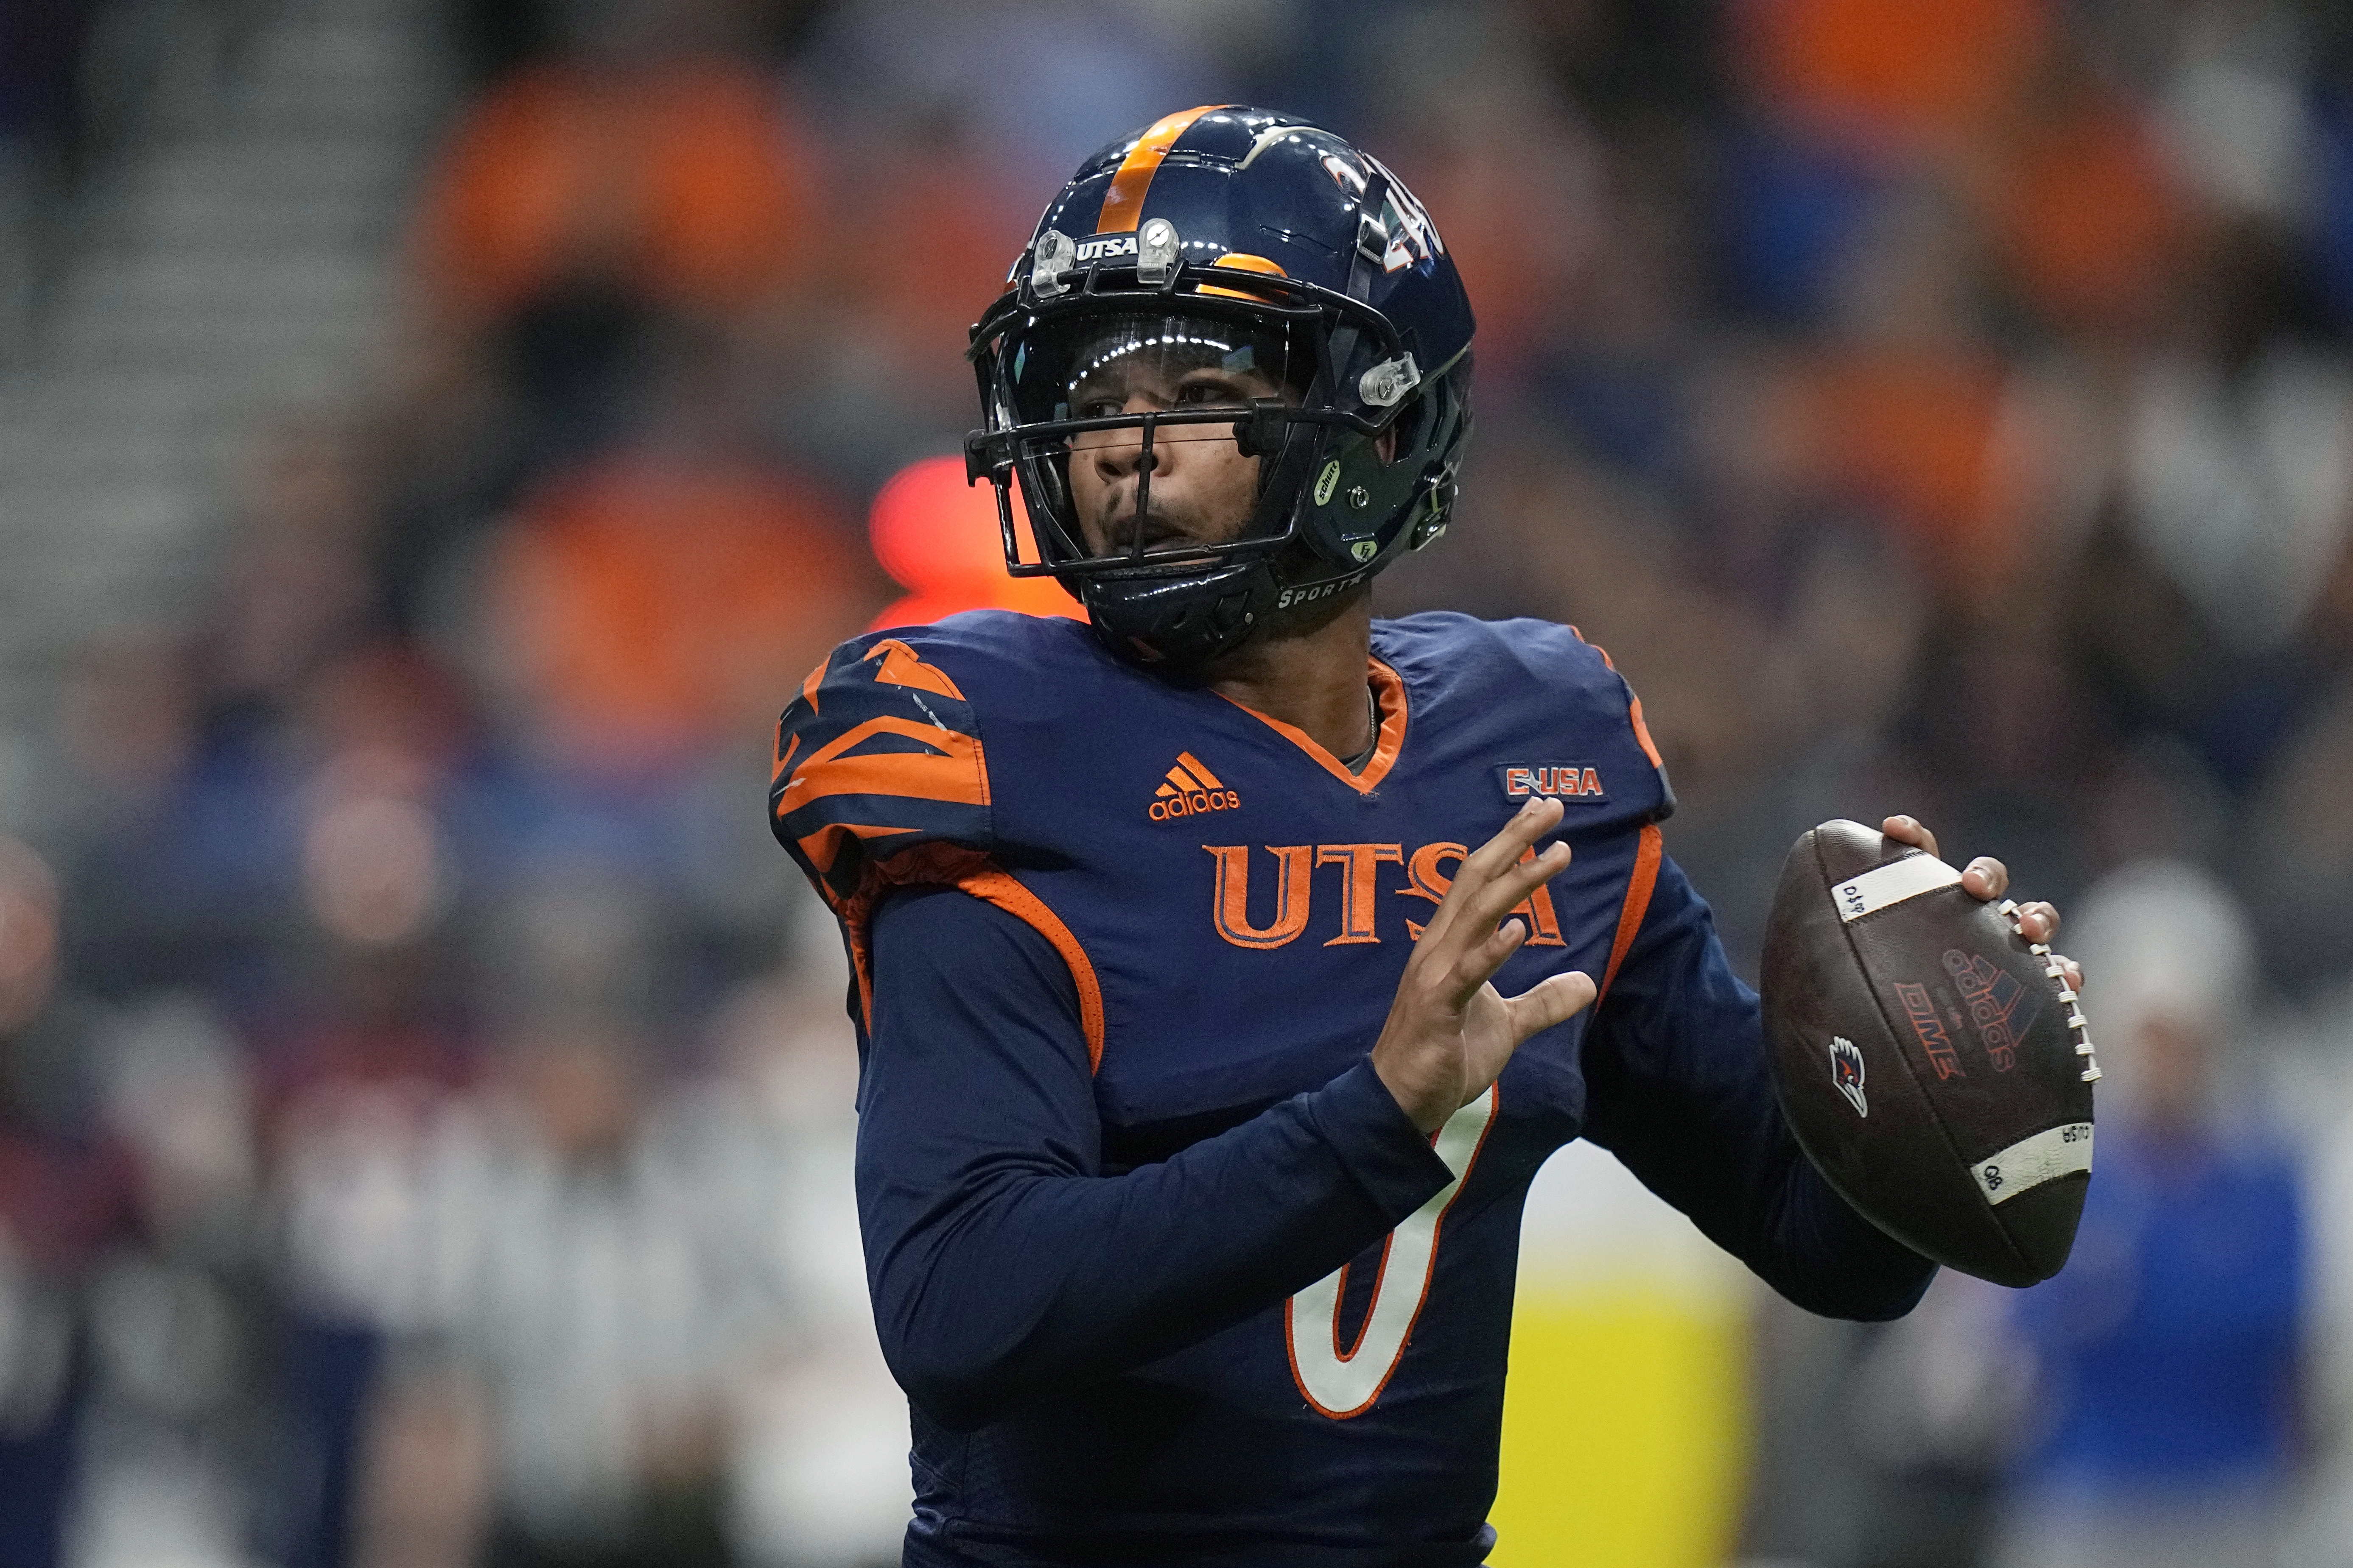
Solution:
[{"label": "blurred crowd in orange, blue and white filling the background", "polygon": [[[19,357],[113,9],[0,0]],[[1887,1331],[1762,1307],[1725,1554],[2353,1563],[2353,12],[428,21],[464,92],[391,355],[256,433],[186,614],[78,649],[0,823],[0,1563],[892,1556],[767,733],[892,599],[1009,590],[953,487],[896,545],[868,510],[972,423],[1045,197],[1200,101],[1438,219],[1480,435],[1381,599],[1612,649],[1751,973],[1788,839],[1892,809],[2092,945],[2078,1262]]]}]

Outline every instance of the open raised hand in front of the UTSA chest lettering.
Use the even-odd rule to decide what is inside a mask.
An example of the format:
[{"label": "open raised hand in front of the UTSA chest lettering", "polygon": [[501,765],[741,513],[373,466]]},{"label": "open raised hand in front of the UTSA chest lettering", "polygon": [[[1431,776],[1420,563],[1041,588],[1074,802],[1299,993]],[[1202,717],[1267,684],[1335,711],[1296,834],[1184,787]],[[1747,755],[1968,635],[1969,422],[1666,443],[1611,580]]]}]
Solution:
[{"label": "open raised hand in front of the UTSA chest lettering", "polygon": [[[1388,1004],[1388,1023],[1372,1046],[1372,1070],[1424,1133],[1487,1093],[1520,1041],[1567,1023],[1593,1004],[1593,976],[1553,976],[1518,997],[1489,983],[1527,926],[1504,917],[1569,865],[1569,846],[1551,844],[1532,860],[1529,846],[1560,825],[1565,806],[1537,797],[1475,851],[1464,856],[1438,914]],[[1499,924],[1501,922],[1501,924]]]}]

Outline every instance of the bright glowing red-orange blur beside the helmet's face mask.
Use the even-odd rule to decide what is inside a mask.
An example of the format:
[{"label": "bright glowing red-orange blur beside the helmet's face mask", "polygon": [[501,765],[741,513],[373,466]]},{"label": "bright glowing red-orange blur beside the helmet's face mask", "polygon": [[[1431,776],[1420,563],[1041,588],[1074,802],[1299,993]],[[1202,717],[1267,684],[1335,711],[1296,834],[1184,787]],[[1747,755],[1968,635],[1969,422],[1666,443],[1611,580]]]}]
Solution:
[{"label": "bright glowing red-orange blur beside the helmet's face mask", "polygon": [[[1028,512],[1016,505],[1014,520],[1024,559],[1035,559]],[[1087,618],[1054,578],[1016,578],[1005,571],[998,496],[988,484],[965,484],[962,458],[922,458],[892,475],[875,496],[866,536],[882,571],[908,590],[868,630],[925,625],[965,609]]]}]

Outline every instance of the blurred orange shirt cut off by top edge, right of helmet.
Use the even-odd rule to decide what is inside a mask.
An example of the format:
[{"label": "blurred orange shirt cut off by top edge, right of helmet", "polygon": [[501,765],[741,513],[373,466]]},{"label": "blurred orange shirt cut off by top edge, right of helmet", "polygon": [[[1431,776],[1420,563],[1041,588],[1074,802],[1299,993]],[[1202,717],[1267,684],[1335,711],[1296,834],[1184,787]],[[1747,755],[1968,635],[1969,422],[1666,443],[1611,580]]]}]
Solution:
[{"label": "blurred orange shirt cut off by top edge, right of helmet", "polygon": [[1739,21],[1767,103],[1915,143],[1988,129],[2052,35],[2045,0],[1748,0]]}]

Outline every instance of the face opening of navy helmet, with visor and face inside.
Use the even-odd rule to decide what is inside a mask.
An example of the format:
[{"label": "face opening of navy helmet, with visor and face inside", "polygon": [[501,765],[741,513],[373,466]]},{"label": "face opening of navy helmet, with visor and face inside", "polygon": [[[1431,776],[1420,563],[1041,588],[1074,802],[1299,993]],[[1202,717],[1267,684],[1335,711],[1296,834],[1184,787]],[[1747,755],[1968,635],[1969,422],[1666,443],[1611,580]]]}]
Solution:
[{"label": "face opening of navy helmet, with visor and face inside", "polygon": [[1071,313],[1009,348],[1014,458],[1078,557],[1198,559],[1188,543],[1247,538],[1261,463],[1235,416],[1297,404],[1315,376],[1308,331],[1226,315]]}]

